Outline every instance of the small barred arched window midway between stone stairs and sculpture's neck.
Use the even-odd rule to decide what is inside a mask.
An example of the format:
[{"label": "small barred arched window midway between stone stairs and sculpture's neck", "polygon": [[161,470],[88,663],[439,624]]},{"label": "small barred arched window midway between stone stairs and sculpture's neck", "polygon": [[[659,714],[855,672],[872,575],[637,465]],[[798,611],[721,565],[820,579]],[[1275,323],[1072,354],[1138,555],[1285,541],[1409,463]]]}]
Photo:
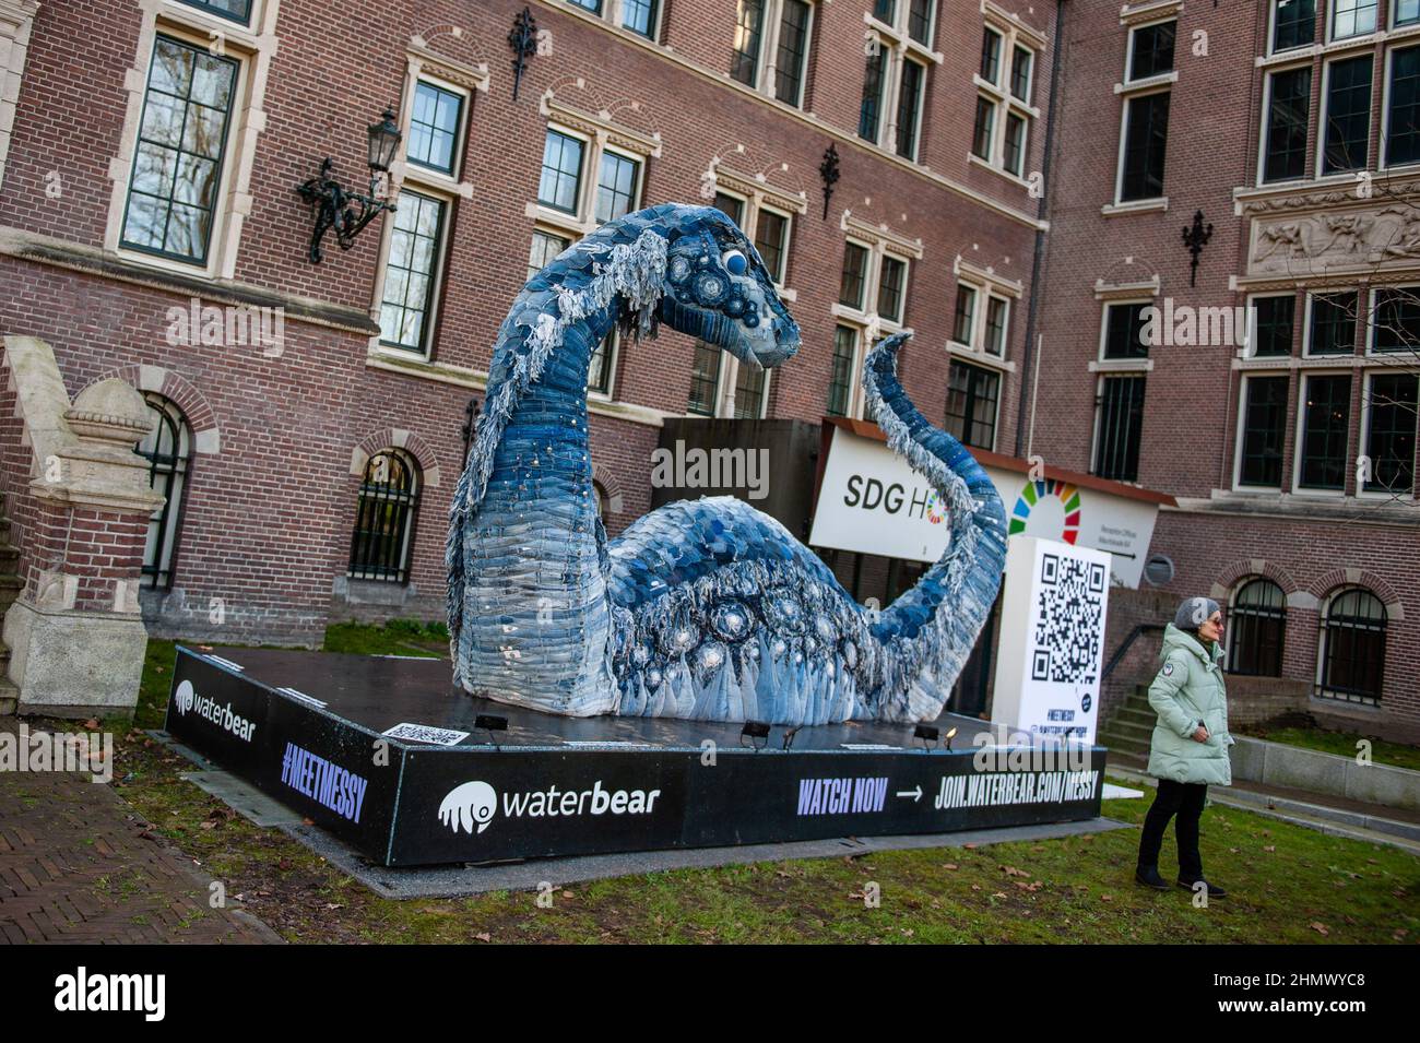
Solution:
[{"label": "small barred arched window midway between stone stairs and sculpture's neck", "polygon": [[386,448],[365,464],[351,534],[352,579],[405,583],[415,543],[419,508],[419,464],[398,448]]}]

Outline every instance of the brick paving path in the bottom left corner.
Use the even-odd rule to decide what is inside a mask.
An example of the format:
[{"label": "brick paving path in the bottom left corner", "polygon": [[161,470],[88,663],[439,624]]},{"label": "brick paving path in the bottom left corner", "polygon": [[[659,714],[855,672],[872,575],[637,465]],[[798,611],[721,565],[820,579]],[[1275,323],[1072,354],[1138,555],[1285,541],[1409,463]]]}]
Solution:
[{"label": "brick paving path in the bottom left corner", "polygon": [[0,942],[280,941],[248,912],[209,908],[210,877],[146,827],[88,775],[0,772]]}]

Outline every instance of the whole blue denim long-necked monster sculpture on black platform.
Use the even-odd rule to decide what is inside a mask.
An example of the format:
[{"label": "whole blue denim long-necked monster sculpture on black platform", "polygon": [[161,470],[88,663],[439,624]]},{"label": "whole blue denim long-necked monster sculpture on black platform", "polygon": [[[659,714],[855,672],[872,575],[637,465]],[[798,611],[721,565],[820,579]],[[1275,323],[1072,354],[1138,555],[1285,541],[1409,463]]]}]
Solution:
[{"label": "whole blue denim long-necked monster sculpture on black platform", "polygon": [[971,454],[903,392],[896,352],[906,335],[869,353],[868,402],[946,504],[950,542],[878,612],[780,522],[733,497],[667,504],[606,539],[588,369],[613,325],[652,335],[657,322],[747,366],[777,366],[799,345],[754,245],[710,207],[628,214],[528,280],[498,331],[450,508],[456,684],[577,717],[937,717],[995,600],[1005,511]]}]

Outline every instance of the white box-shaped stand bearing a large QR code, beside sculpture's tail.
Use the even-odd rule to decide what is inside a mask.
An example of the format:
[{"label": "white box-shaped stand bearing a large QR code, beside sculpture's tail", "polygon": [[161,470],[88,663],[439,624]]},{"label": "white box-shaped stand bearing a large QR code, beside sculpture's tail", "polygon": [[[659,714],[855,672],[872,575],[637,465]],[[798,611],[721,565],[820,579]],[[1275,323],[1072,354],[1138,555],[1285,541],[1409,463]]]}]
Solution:
[{"label": "white box-shaped stand bearing a large QR code, beside sculpture's tail", "polygon": [[1038,536],[1007,543],[991,722],[1015,741],[1095,742],[1109,559]]}]

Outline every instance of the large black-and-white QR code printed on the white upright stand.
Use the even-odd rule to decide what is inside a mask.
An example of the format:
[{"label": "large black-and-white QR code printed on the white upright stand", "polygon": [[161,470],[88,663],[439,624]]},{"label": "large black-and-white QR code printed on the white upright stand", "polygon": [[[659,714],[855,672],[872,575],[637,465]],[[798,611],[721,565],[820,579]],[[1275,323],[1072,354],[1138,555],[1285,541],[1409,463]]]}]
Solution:
[{"label": "large black-and-white QR code printed on the white upright stand", "polygon": [[1032,681],[1093,684],[1105,640],[1105,566],[1041,555]]}]

